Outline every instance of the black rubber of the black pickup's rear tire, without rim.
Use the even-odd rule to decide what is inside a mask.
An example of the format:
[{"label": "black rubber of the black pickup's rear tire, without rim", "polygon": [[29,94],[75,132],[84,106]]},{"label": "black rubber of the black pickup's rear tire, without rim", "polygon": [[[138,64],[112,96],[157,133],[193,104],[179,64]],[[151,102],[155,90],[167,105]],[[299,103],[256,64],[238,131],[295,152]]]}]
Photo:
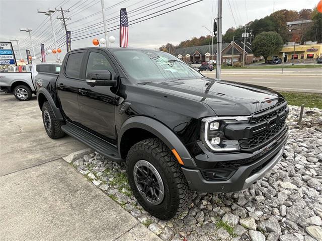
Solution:
[{"label": "black rubber of the black pickup's rear tire, without rim", "polygon": [[[47,113],[49,114],[50,121],[51,121],[51,128],[48,129],[45,123],[45,115]],[[52,139],[58,139],[65,135],[65,132],[62,131],[61,126],[64,125],[63,121],[58,121],[54,115],[53,110],[51,109],[51,106],[49,105],[49,102],[46,101],[42,106],[42,121],[44,123],[45,130],[47,132],[47,135]]]}]

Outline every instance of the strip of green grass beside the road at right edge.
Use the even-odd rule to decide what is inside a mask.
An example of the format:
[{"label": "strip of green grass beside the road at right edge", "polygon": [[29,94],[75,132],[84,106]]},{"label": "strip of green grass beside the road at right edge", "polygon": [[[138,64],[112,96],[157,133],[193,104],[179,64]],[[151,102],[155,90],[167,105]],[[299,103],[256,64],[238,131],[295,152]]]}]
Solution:
[{"label": "strip of green grass beside the road at right edge", "polygon": [[318,93],[300,93],[279,91],[287,100],[289,105],[305,107],[316,107],[322,109],[322,94]]}]

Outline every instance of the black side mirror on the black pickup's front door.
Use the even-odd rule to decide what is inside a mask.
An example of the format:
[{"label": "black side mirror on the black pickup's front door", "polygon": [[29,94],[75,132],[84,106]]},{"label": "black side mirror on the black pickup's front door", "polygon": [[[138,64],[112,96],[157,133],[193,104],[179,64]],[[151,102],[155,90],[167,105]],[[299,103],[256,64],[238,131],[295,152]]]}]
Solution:
[{"label": "black side mirror on the black pickup's front door", "polygon": [[112,73],[109,70],[93,70],[86,74],[86,83],[94,86],[115,86],[116,81],[112,81]]}]

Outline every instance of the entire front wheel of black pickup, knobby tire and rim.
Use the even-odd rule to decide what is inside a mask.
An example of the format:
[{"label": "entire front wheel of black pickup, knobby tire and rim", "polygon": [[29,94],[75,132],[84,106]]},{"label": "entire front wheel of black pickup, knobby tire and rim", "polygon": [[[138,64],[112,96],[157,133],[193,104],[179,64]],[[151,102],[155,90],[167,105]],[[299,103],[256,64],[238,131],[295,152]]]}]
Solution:
[{"label": "entire front wheel of black pickup, knobby tire and rim", "polygon": [[126,171],[135,198],[153,216],[168,220],[182,212],[192,199],[181,167],[159,139],[142,140],[131,147]]}]

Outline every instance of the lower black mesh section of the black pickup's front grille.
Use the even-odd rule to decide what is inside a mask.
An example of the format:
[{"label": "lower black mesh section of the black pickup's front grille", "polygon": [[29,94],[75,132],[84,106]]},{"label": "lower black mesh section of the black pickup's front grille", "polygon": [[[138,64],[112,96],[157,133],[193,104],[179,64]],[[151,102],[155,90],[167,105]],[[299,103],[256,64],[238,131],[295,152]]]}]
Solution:
[{"label": "lower black mesh section of the black pickup's front grille", "polygon": [[[280,132],[283,128],[285,128],[285,121],[282,121],[276,127],[269,131],[262,132],[250,139],[241,139],[239,140],[239,145],[241,149],[251,149],[253,147],[259,147],[262,143],[271,139],[278,132]],[[281,133],[282,134],[282,133]]]}]

